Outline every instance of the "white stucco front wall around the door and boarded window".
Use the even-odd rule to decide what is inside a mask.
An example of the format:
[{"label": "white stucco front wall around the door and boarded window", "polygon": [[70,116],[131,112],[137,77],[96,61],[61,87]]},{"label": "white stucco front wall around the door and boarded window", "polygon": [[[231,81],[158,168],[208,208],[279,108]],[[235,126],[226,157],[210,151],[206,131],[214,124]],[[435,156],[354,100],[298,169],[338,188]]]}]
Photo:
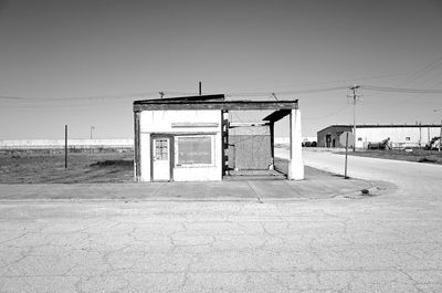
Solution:
[{"label": "white stucco front wall around the door and boarded window", "polygon": [[[213,166],[175,166],[175,181],[208,181],[222,179],[221,111],[143,111],[140,113],[141,181],[150,181],[150,137],[152,134],[214,135]],[[173,156],[175,154],[171,154]]]}]

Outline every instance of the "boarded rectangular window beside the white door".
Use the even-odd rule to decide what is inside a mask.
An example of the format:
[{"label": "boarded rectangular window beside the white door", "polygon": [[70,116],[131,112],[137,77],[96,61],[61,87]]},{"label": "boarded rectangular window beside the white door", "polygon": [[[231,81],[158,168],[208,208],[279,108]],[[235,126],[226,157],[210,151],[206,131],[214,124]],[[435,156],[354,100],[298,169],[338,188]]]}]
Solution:
[{"label": "boarded rectangular window beside the white door", "polygon": [[211,165],[211,136],[179,136],[177,137],[177,166]]}]

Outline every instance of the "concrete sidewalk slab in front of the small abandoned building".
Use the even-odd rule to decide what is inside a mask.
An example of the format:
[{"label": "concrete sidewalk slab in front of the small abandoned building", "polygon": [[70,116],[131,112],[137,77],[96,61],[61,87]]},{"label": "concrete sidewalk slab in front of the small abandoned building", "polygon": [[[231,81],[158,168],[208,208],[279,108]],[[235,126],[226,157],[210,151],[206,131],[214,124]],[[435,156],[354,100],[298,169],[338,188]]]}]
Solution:
[{"label": "concrete sidewalk slab in front of the small abandoned building", "polygon": [[0,200],[270,200],[320,199],[373,185],[306,168],[306,179],[210,182],[0,185]]}]

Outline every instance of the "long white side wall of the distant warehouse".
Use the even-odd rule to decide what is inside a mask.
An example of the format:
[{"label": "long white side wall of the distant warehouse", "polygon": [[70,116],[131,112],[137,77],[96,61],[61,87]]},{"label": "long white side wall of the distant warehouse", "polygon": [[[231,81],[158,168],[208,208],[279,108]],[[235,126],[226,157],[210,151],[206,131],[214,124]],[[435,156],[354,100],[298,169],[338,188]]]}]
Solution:
[{"label": "long white side wall of the distant warehouse", "polygon": [[[370,127],[356,129],[356,147],[365,148],[368,143],[379,143],[390,137],[393,147],[424,146],[434,136],[439,136],[440,127]],[[407,140],[410,137],[410,140]],[[361,138],[361,140],[359,140]]]}]

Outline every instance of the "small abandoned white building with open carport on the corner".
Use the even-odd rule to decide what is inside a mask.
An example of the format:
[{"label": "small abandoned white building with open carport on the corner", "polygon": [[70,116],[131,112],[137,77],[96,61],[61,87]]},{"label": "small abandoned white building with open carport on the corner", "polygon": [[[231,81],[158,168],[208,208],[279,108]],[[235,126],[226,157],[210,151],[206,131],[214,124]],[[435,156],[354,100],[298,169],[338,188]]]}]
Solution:
[{"label": "small abandoned white building with open carport on the corner", "polygon": [[[256,123],[231,123],[231,111],[273,112]],[[274,124],[287,115],[287,178],[302,180],[297,100],[227,101],[220,94],[135,101],[135,180],[208,181],[231,170],[273,170]]]}]

